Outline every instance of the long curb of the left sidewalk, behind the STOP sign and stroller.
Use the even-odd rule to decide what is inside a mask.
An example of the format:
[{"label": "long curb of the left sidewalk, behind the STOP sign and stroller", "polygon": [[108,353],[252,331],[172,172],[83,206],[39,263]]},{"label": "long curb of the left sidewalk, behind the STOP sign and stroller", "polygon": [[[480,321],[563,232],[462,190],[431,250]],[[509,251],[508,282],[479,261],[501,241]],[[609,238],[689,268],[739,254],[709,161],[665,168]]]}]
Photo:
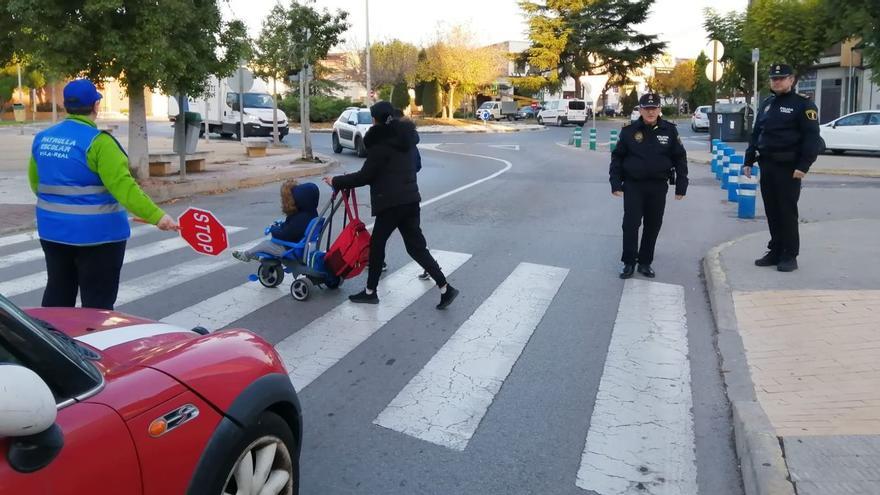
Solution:
[{"label": "long curb of the left sidewalk, behind the STOP sign and stroller", "polygon": [[[320,156],[320,155],[315,155]],[[159,184],[141,184],[141,188],[156,203],[165,203],[172,199],[185,198],[196,194],[217,194],[247,187],[257,187],[272,182],[299,177],[308,177],[326,172],[339,162],[326,156],[320,156],[322,163],[313,167],[294,170],[272,171],[271,173],[252,177],[218,178],[193,180],[187,182],[169,182]]]}]

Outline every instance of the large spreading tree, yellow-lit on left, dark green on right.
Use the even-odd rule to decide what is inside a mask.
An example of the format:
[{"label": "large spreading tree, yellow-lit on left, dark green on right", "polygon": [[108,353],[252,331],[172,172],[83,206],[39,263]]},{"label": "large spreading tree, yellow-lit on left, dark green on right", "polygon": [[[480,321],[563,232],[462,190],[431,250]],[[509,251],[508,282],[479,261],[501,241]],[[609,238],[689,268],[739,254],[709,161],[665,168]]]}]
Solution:
[{"label": "large spreading tree, yellow-lit on left, dark green on right", "polygon": [[[571,77],[628,74],[654,60],[665,42],[634,25],[647,20],[654,0],[520,0],[532,47],[529,64],[542,71],[544,87],[557,89]],[[532,83],[534,84],[534,83]]]}]

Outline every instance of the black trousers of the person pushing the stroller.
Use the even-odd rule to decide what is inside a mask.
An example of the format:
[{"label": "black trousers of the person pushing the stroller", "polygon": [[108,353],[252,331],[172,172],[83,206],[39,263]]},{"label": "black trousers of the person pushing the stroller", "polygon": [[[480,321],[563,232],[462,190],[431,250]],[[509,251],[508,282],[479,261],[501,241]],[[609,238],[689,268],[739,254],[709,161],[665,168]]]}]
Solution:
[{"label": "black trousers of the person pushing the stroller", "polygon": [[394,230],[400,231],[403,245],[410,258],[425,269],[438,287],[446,285],[446,277],[440,270],[437,260],[428,251],[428,243],[422,234],[421,207],[418,203],[393,206],[376,215],[373,234],[370,238],[370,266],[367,274],[367,288],[376,290],[379,276],[382,275],[382,264],[385,262],[385,244]]}]

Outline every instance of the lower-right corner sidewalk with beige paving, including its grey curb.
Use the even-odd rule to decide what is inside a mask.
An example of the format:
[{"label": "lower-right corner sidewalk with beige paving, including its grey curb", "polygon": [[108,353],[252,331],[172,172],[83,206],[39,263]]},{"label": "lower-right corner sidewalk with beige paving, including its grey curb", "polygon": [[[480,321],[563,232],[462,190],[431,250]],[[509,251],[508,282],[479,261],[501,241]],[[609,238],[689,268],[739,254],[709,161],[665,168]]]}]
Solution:
[{"label": "lower-right corner sidewalk with beige paving, including its grey curb", "polygon": [[880,493],[880,220],[801,224],[800,269],[767,232],[704,259],[748,495]]}]

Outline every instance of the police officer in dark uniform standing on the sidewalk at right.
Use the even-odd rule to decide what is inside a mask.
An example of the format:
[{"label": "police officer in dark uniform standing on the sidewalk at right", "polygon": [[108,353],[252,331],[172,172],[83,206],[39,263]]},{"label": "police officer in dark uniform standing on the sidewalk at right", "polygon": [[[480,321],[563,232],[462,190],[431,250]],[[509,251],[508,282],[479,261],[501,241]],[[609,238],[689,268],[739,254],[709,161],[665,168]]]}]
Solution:
[{"label": "police officer in dark uniform standing on the sidewalk at right", "polygon": [[794,73],[785,64],[770,66],[771,96],[761,102],[746,150],[743,174],[761,164],[761,197],[770,228],[769,251],[755,260],[780,272],[797,270],[800,252],[797,202],[801,179],[819,154],[819,112],[807,97],[792,89]]}]

